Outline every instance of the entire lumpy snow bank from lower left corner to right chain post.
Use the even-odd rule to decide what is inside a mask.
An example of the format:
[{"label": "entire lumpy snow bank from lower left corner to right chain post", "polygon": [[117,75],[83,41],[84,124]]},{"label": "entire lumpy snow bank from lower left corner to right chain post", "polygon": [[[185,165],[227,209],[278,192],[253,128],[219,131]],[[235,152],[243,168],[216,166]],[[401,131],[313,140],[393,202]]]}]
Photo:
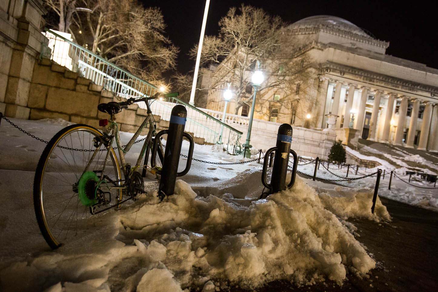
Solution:
[{"label": "entire lumpy snow bank from lower left corner to right chain post", "polygon": [[[260,172],[256,174],[241,176],[258,184],[254,180]],[[354,226],[344,225],[336,216],[388,219],[380,201],[371,215],[366,190],[354,190],[349,196],[338,190],[339,196],[329,199],[297,177],[291,190],[256,200],[240,193],[244,191],[240,181],[234,186],[232,181],[224,185],[236,196],[211,189],[216,195],[201,197],[182,180],[177,181],[175,195],[162,203],[156,191],[142,195],[136,204],[111,216],[108,223],[116,229],[109,234],[118,234],[115,239],[109,235],[105,246],[87,246],[87,240],[78,240],[64,250],[13,263],[0,271],[1,288],[215,291],[239,285],[252,289],[277,279],[297,285],[325,279],[340,283],[348,273],[363,277],[375,267],[350,233]]]}]

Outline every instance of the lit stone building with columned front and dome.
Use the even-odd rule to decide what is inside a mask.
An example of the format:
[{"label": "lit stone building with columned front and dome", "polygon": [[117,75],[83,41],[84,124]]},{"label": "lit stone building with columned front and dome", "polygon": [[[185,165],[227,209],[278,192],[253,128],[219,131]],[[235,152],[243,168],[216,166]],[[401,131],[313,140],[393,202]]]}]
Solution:
[{"label": "lit stone building with columned front and dome", "polygon": [[344,142],[361,137],[438,151],[437,69],[386,55],[389,42],[336,16],[304,18],[285,33],[299,46],[293,58],[312,63],[312,77],[301,84],[305,94],[297,84],[300,113],[274,96],[267,120],[314,130],[332,123]]}]

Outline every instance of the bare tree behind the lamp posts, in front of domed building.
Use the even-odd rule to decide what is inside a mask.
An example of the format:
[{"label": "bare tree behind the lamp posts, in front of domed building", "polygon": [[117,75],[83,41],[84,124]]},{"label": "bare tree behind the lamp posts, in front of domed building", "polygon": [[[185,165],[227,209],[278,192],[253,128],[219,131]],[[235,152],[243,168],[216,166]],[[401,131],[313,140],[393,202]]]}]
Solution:
[{"label": "bare tree behind the lamp posts, in front of domed building", "polygon": [[[303,80],[309,75],[306,70],[310,60],[295,57],[297,46],[285,33],[286,24],[279,17],[272,17],[265,11],[251,6],[232,7],[219,21],[219,35],[206,36],[202,47],[201,65],[214,66],[213,77],[208,88],[221,90],[231,82],[236,96],[235,113],[240,106],[251,106],[251,74],[255,61],[260,61],[265,81],[258,89],[259,114],[268,116],[272,92],[281,93],[277,105],[292,113],[306,89]],[[191,49],[191,56],[197,52]],[[298,85],[300,84],[300,85]],[[300,95],[297,94],[300,87]],[[214,100],[212,102],[215,102]]]}]

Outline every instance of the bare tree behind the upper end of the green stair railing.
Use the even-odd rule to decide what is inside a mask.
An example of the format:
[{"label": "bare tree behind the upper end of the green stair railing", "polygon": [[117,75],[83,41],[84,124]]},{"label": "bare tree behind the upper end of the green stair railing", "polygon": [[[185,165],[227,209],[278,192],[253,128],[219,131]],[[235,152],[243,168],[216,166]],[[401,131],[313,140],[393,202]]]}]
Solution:
[{"label": "bare tree behind the upper end of the green stair railing", "polygon": [[[175,69],[179,49],[164,35],[159,8],[144,8],[138,0],[45,1],[54,11],[67,11],[64,31],[80,45],[132,74],[157,83],[166,70]],[[65,13],[58,15],[61,28]]]}]

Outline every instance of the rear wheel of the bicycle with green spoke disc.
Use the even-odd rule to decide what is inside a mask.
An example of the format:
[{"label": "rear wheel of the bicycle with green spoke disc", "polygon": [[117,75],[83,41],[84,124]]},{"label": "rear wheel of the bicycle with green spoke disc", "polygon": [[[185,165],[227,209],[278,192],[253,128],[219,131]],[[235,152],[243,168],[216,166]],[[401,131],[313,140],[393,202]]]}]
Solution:
[{"label": "rear wheel of the bicycle with green spoke disc", "polygon": [[[52,249],[86,232],[90,207],[97,199],[90,196],[93,191],[96,195],[98,188],[106,188],[100,187],[103,183],[100,179],[105,180],[103,185],[121,185],[119,163],[112,147],[97,151],[93,158],[94,141],[102,141],[99,140],[102,137],[94,127],[75,124],[55,134],[42,152],[35,171],[33,199],[39,229]],[[99,149],[104,146],[100,144]],[[89,167],[85,169],[88,162]],[[98,180],[100,183],[95,187],[94,181]],[[112,200],[121,201],[122,190],[105,191]]]}]

